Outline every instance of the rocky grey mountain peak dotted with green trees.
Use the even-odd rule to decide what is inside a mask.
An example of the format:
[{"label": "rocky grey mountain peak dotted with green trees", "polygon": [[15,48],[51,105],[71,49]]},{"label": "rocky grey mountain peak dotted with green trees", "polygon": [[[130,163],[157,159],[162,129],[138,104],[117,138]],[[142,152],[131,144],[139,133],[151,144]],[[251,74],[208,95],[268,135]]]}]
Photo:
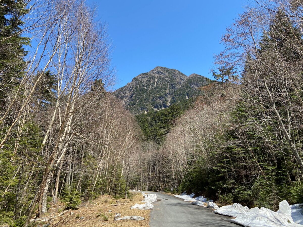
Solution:
[{"label": "rocky grey mountain peak dotted with green trees", "polygon": [[132,82],[114,91],[132,113],[160,110],[201,94],[199,87],[212,81],[198,74],[189,77],[175,69],[157,66],[136,76]]}]

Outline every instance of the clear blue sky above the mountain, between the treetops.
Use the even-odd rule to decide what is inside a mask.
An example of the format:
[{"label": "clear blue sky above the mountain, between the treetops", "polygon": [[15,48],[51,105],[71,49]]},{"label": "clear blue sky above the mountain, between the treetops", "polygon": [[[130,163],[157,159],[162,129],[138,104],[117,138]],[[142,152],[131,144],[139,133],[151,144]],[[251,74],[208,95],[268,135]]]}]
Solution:
[{"label": "clear blue sky above the mountain, between the treetops", "polygon": [[97,3],[108,24],[118,87],[156,66],[211,78],[213,55],[244,0],[108,0]]}]

